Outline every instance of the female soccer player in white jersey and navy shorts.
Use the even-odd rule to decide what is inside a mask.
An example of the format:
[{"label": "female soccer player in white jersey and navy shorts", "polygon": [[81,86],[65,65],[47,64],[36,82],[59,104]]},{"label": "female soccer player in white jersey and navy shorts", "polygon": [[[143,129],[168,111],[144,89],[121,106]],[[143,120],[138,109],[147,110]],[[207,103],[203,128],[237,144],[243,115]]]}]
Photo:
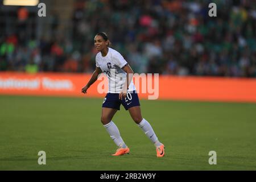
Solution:
[{"label": "female soccer player in white jersey and navy shorts", "polygon": [[104,32],[100,32],[94,37],[94,46],[99,51],[96,55],[96,69],[81,92],[86,93],[90,85],[97,80],[98,75],[104,72],[109,80],[109,90],[102,104],[101,122],[108,131],[110,138],[118,146],[113,155],[129,154],[130,152],[130,149],[123,142],[117,126],[112,121],[114,114],[117,110],[120,110],[120,105],[122,104],[126,110],[129,110],[135,123],[141,127],[151,142],[154,143],[156,156],[163,157],[164,145],[159,142],[150,123],[142,118],[138,94],[132,80],[133,70],[123,59],[123,56],[110,48],[109,44],[108,36]]}]

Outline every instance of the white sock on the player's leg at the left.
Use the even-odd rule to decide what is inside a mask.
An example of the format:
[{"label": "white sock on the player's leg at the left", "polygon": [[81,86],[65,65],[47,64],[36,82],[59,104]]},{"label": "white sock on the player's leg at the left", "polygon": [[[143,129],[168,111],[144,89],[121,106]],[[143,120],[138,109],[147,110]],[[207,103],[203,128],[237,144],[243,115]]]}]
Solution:
[{"label": "white sock on the player's leg at the left", "polygon": [[122,148],[127,147],[125,142],[123,142],[123,139],[119,133],[119,130],[113,121],[110,121],[108,124],[103,126],[106,128],[110,137],[118,147],[122,147]]}]

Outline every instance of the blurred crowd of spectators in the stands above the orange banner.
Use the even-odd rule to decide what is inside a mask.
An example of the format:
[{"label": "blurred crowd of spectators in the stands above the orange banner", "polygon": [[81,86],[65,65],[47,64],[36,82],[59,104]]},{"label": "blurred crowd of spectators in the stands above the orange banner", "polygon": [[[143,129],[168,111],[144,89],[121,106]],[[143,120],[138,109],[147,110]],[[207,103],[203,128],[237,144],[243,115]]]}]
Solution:
[{"label": "blurred crowd of spectators in the stands above the orange banner", "polygon": [[76,1],[71,22],[70,36],[57,18],[50,38],[1,36],[0,71],[91,73],[104,31],[137,73],[256,77],[254,1]]}]

